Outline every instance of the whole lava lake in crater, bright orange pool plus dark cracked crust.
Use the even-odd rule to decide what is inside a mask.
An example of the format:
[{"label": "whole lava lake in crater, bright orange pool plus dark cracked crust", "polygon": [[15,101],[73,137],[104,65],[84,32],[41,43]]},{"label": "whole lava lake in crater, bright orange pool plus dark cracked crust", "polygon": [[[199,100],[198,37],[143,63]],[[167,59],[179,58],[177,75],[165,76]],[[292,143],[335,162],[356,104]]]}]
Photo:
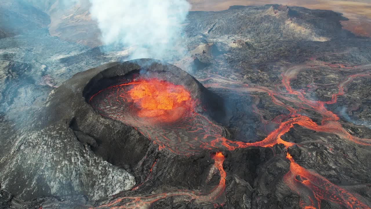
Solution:
[{"label": "whole lava lake in crater, bright orange pool plus dark cracked crust", "polygon": [[98,91],[89,103],[102,116],[131,125],[159,149],[191,155],[209,147],[223,129],[194,110],[197,102],[181,85],[157,78]]}]

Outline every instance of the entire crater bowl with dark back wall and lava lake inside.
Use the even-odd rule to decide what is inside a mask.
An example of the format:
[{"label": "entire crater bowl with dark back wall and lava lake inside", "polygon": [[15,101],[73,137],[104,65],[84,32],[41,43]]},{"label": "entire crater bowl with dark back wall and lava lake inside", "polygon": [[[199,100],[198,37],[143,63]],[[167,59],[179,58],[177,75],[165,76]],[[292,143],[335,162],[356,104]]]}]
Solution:
[{"label": "entire crater bowl with dark back wall and lava lake inside", "polygon": [[139,59],[110,67],[87,84],[88,102],[102,116],[133,126],[159,149],[189,155],[227,131],[222,100],[174,65]]}]

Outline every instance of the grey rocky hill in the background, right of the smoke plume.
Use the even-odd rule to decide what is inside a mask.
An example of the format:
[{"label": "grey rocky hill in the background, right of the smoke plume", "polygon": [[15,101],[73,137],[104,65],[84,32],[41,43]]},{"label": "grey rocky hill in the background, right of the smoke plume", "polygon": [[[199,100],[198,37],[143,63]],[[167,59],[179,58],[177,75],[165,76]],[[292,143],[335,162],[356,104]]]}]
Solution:
[{"label": "grey rocky hill in the background, right of the smoke plume", "polygon": [[203,33],[209,38],[240,35],[256,41],[273,39],[329,41],[348,34],[341,30],[339,20],[347,18],[332,11],[308,10],[303,7],[277,4],[256,7],[235,6],[218,12],[191,12],[187,29],[194,34]]}]

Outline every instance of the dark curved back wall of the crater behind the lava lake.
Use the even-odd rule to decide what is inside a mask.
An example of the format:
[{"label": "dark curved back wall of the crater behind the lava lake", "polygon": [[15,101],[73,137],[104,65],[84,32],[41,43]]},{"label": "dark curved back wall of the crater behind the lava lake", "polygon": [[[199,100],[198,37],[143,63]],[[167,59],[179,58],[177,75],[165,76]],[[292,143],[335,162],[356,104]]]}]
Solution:
[{"label": "dark curved back wall of the crater behind the lava lake", "polygon": [[88,102],[93,94],[107,87],[132,81],[136,74],[147,74],[149,78],[157,77],[175,85],[182,85],[190,91],[193,99],[199,101],[200,105],[195,107],[196,112],[206,113],[217,122],[225,116],[221,97],[207,90],[193,76],[180,68],[153,59],[131,60],[105,69],[94,76],[84,88],[85,101]]}]

